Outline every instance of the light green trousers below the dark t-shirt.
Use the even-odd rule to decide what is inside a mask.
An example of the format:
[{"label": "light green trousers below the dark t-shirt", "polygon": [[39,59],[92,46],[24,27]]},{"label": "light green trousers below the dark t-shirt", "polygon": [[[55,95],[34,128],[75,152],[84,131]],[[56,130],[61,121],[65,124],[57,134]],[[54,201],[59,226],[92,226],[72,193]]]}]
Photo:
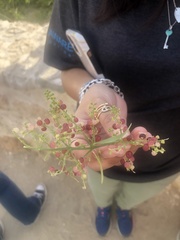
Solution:
[{"label": "light green trousers below the dark t-shirt", "polygon": [[160,193],[178,176],[179,173],[146,183],[124,182],[104,176],[103,183],[101,183],[101,175],[88,168],[89,187],[97,206],[102,208],[112,205],[115,200],[121,209],[130,210]]}]

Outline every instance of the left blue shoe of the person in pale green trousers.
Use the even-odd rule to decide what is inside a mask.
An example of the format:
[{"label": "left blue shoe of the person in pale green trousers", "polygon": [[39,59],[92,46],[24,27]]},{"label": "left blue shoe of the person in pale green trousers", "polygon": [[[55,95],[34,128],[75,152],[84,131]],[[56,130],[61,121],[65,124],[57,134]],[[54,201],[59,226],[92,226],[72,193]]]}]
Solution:
[{"label": "left blue shoe of the person in pale green trousers", "polygon": [[100,236],[105,236],[111,225],[111,207],[97,208],[96,230]]}]

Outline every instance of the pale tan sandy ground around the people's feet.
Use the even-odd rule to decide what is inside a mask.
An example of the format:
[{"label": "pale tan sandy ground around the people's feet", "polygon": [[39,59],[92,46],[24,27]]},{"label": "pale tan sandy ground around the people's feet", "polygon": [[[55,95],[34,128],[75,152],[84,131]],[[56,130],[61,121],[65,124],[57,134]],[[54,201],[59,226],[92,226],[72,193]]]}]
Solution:
[{"label": "pale tan sandy ground around the people's feet", "polygon": [[[70,110],[75,103],[63,92],[59,73],[43,64],[47,26],[0,21],[0,164],[26,195],[36,184],[48,189],[37,221],[23,226],[0,206],[7,240],[98,240],[94,228],[95,204],[89,189],[66,176],[51,177],[51,162],[24,150],[12,129],[24,120],[46,116],[45,88],[53,89]],[[162,193],[133,210],[134,231],[129,240],[175,240],[180,229],[180,178]],[[104,239],[123,239],[115,222]]]}]

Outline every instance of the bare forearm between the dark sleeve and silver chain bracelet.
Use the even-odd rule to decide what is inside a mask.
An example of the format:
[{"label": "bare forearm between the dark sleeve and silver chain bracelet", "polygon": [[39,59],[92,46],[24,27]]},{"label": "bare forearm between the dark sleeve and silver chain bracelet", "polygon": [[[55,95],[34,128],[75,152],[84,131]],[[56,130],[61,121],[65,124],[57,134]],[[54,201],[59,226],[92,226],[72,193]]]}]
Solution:
[{"label": "bare forearm between the dark sleeve and silver chain bracelet", "polygon": [[64,90],[74,100],[79,100],[79,90],[93,77],[84,69],[73,68],[61,72],[61,80]]}]

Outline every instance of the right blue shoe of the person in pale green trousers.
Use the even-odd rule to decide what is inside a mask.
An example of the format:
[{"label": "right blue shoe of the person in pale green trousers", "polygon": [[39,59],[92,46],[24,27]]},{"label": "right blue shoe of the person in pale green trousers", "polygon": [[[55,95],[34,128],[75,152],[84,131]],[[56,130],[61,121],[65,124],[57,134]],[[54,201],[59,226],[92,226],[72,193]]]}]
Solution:
[{"label": "right blue shoe of the person in pale green trousers", "polygon": [[128,210],[121,210],[117,207],[116,214],[119,233],[124,237],[128,237],[133,229],[131,212]]}]

